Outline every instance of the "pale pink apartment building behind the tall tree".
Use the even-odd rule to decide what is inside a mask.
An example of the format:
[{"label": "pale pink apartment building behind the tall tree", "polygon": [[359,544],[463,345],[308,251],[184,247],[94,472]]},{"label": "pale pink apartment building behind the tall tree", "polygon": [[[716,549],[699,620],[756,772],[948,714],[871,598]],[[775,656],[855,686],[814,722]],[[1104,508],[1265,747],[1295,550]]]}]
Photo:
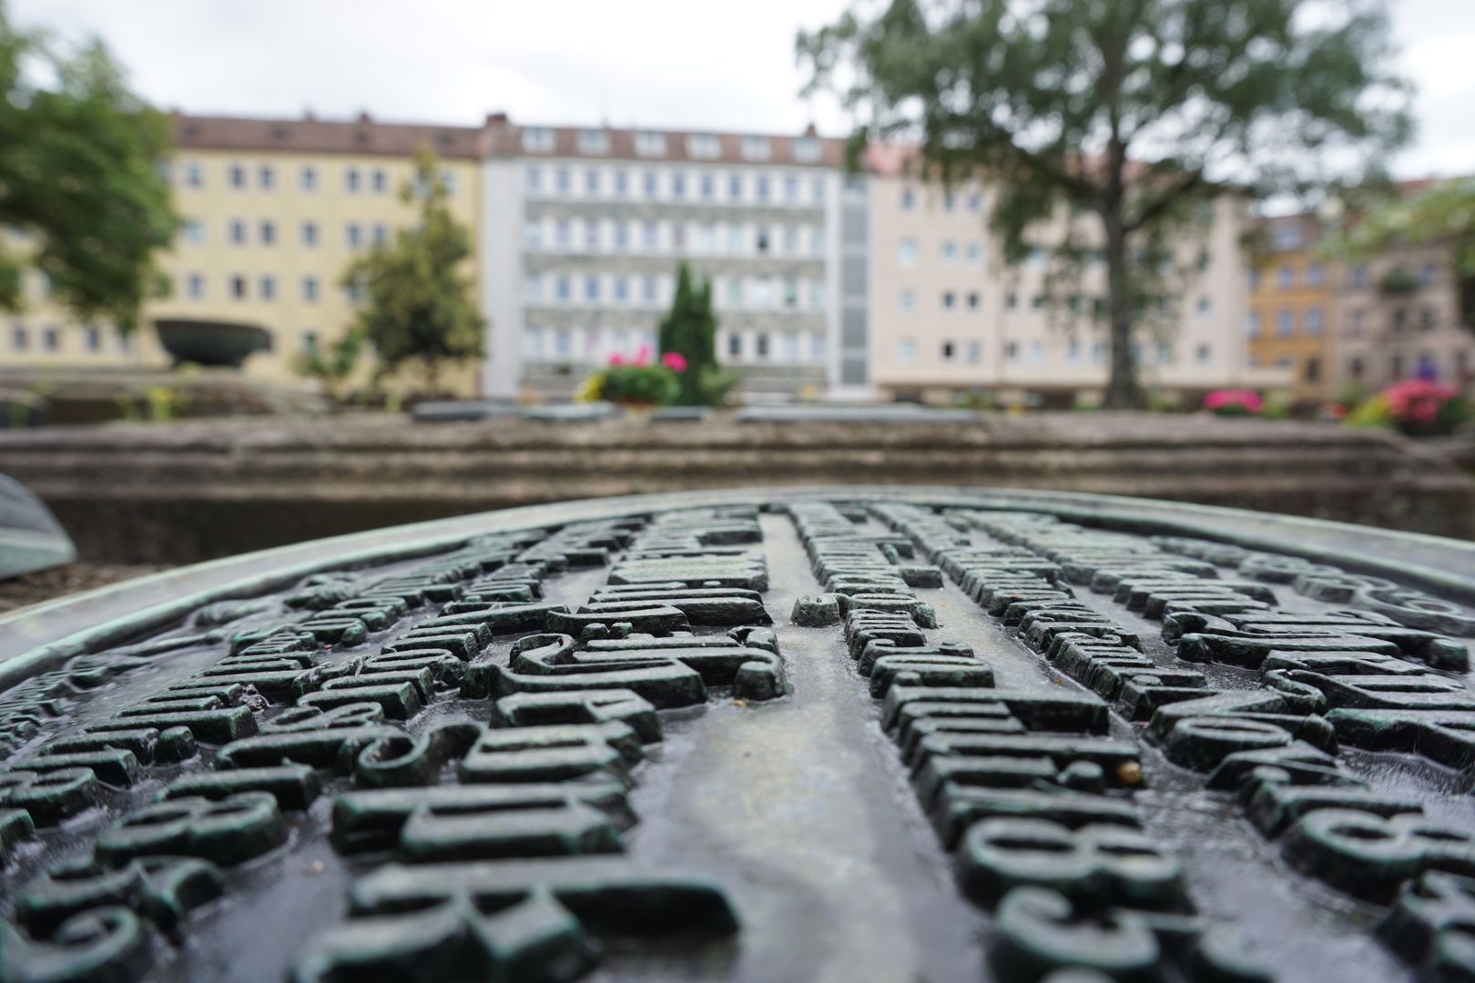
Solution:
[{"label": "pale pink apartment building behind the tall tree", "polygon": [[[928,402],[969,391],[1050,404],[1094,398],[1109,363],[1102,320],[1093,317],[1106,293],[1105,262],[1087,264],[1062,289],[1049,281],[1047,251],[1063,242],[1066,223],[1086,236],[1093,223],[1061,217],[1035,233],[1041,248],[1025,262],[1007,264],[988,231],[988,187],[923,183],[904,147],[873,147],[866,164],[876,391]],[[1183,299],[1149,311],[1158,329],[1136,349],[1145,385],[1187,398],[1285,379],[1246,358],[1240,208],[1220,200],[1207,220],[1179,249],[1176,265],[1195,268]]]}]

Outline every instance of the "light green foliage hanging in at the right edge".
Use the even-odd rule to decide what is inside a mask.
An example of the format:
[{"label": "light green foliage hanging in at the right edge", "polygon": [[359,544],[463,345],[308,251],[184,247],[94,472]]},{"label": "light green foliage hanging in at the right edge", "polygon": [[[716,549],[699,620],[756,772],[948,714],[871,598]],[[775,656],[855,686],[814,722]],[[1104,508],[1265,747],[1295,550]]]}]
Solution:
[{"label": "light green foliage hanging in at the right edge", "polygon": [[[1328,243],[1328,252],[1360,261],[1398,245],[1448,249],[1459,283],[1460,323],[1475,329],[1475,178],[1438,181],[1412,196],[1397,189],[1384,189],[1372,199],[1354,195],[1348,205],[1350,217]],[[1385,279],[1397,276],[1417,289],[1409,271],[1391,270]]]}]

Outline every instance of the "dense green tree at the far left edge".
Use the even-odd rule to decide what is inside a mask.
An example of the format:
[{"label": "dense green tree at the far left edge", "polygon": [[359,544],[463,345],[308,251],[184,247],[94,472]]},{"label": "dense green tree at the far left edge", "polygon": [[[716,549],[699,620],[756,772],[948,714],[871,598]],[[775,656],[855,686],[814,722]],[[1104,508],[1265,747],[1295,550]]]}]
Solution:
[{"label": "dense green tree at the far left edge", "polygon": [[178,228],[161,165],[168,119],[131,93],[99,41],[72,52],[15,28],[0,0],[0,309],[22,305],[21,271],[53,299],[119,330],[165,287],[155,253]]}]

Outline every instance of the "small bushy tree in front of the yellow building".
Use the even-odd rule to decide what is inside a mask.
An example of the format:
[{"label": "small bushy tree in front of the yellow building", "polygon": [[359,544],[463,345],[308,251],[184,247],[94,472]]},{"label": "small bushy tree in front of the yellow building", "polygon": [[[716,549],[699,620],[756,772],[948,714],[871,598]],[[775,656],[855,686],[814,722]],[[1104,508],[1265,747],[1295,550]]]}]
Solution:
[{"label": "small bushy tree in front of the yellow building", "polygon": [[448,196],[440,162],[422,147],[414,180],[400,190],[403,202],[419,203],[419,223],[344,273],[344,286],[364,295],[354,330],[375,346],[379,377],[419,363],[426,386],[435,389],[442,361],[482,354],[485,320],[460,268],[471,256],[471,231],[451,217]]}]

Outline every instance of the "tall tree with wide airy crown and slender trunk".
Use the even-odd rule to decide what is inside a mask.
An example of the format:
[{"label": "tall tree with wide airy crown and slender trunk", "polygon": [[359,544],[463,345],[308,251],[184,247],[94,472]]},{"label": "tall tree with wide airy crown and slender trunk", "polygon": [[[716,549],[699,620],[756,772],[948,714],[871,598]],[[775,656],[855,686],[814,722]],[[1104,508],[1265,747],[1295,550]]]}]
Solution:
[{"label": "tall tree with wide airy crown and slender trunk", "polygon": [[798,37],[857,140],[981,177],[1018,261],[1062,212],[1106,262],[1108,407],[1140,405],[1139,308],[1174,225],[1224,193],[1360,180],[1409,130],[1382,0],[891,0]]}]

